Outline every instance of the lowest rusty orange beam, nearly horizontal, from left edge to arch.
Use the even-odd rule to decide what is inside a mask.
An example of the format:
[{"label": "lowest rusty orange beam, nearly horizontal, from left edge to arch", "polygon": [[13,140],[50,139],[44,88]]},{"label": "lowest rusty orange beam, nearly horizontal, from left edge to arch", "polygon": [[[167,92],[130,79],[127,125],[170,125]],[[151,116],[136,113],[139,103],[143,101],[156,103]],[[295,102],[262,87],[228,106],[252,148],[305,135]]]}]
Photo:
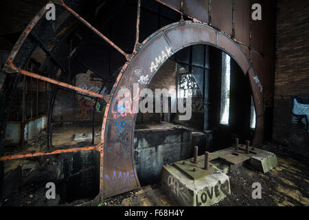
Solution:
[{"label": "lowest rusty orange beam, nearly horizontal, from left edge to arch", "polygon": [[97,148],[98,148],[98,146],[85,146],[85,147],[80,147],[80,148],[69,148],[69,149],[56,150],[56,151],[52,151],[52,152],[38,152],[38,153],[27,153],[27,154],[20,154],[20,155],[10,155],[10,156],[0,157],[0,161],[12,160],[12,159],[25,159],[25,158],[29,158],[29,157],[39,157],[39,156],[47,156],[47,155],[55,155],[55,154],[60,154],[60,153],[92,151],[92,150],[97,150]]}]

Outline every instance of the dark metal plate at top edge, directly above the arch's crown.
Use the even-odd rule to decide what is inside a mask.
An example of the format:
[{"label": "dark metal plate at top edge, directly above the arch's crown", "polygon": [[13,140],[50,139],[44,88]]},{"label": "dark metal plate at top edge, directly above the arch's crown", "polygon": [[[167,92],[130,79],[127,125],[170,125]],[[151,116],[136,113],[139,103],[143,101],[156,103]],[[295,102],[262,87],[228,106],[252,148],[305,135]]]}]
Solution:
[{"label": "dark metal plate at top edge, directly above the arch's crown", "polygon": [[183,12],[194,19],[209,23],[209,0],[184,1]]}]

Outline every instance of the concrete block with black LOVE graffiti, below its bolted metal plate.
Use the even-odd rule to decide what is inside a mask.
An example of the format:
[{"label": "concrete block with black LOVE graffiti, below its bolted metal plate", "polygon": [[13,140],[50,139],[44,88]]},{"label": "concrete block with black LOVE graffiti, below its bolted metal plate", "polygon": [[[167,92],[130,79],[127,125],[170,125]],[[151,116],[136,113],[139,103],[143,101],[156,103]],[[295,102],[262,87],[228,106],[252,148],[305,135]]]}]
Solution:
[{"label": "concrete block with black LOVE graffiti, below its bolted metal plate", "polygon": [[163,166],[161,184],[181,206],[211,206],[231,194],[229,177],[219,170],[193,180],[172,165]]}]

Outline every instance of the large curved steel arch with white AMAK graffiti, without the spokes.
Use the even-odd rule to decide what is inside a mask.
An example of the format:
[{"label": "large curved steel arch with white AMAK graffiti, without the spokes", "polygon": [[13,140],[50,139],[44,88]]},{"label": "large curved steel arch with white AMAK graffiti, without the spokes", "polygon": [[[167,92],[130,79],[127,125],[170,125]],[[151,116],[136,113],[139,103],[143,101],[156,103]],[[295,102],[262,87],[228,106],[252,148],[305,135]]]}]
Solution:
[{"label": "large curved steel arch with white AMAK graffiti, without the spokes", "polygon": [[[103,157],[100,162],[100,192],[103,198],[140,187],[133,158],[133,139],[137,113],[117,109],[119,89],[126,88],[131,94],[134,94],[133,83],[139,83],[141,75],[148,75],[147,83],[139,83],[139,89],[144,89],[168,57],[184,47],[194,44],[207,44],[220,48],[240,65],[244,74],[249,74],[256,112],[253,146],[262,144],[264,131],[262,89],[260,89],[260,80],[241,47],[227,34],[204,23],[192,21],[172,23],[161,28],[141,43],[139,50],[122,68],[111,92],[112,98],[106,106],[101,137],[101,155]],[[156,63],[155,59],[159,60],[159,56],[162,59],[157,67],[154,67],[152,62]],[[140,70],[138,74],[135,72],[136,68]],[[132,103],[135,98],[137,97],[131,98]]]}]

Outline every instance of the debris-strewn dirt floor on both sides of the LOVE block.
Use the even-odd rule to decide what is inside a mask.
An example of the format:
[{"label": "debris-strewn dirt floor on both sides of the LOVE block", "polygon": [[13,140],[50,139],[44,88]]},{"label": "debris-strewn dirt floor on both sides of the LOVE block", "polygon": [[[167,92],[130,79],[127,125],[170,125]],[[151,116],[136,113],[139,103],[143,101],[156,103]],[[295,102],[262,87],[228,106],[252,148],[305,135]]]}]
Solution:
[{"label": "debris-strewn dirt floor on both sides of the LOVE block", "polygon": [[[308,159],[301,155],[288,153],[287,148],[272,144],[264,146],[264,150],[277,155],[279,166],[266,174],[254,170],[249,165],[231,171],[229,175],[231,195],[214,206],[309,206]],[[58,166],[55,164],[56,161],[45,162],[45,159],[36,159],[39,164],[34,167],[36,175],[33,178],[36,180],[44,176],[41,172],[44,170],[45,163],[54,164],[55,169]],[[58,194],[56,199],[46,199],[45,186],[32,184],[29,180],[20,190],[16,190],[10,197],[4,199],[0,206],[89,206],[90,204],[89,199],[60,204]],[[253,199],[251,196],[254,182],[259,182],[262,186],[262,199]],[[91,203],[91,205],[179,206],[172,195],[165,192],[160,184],[144,186],[141,189],[106,199],[103,203]]]}]

